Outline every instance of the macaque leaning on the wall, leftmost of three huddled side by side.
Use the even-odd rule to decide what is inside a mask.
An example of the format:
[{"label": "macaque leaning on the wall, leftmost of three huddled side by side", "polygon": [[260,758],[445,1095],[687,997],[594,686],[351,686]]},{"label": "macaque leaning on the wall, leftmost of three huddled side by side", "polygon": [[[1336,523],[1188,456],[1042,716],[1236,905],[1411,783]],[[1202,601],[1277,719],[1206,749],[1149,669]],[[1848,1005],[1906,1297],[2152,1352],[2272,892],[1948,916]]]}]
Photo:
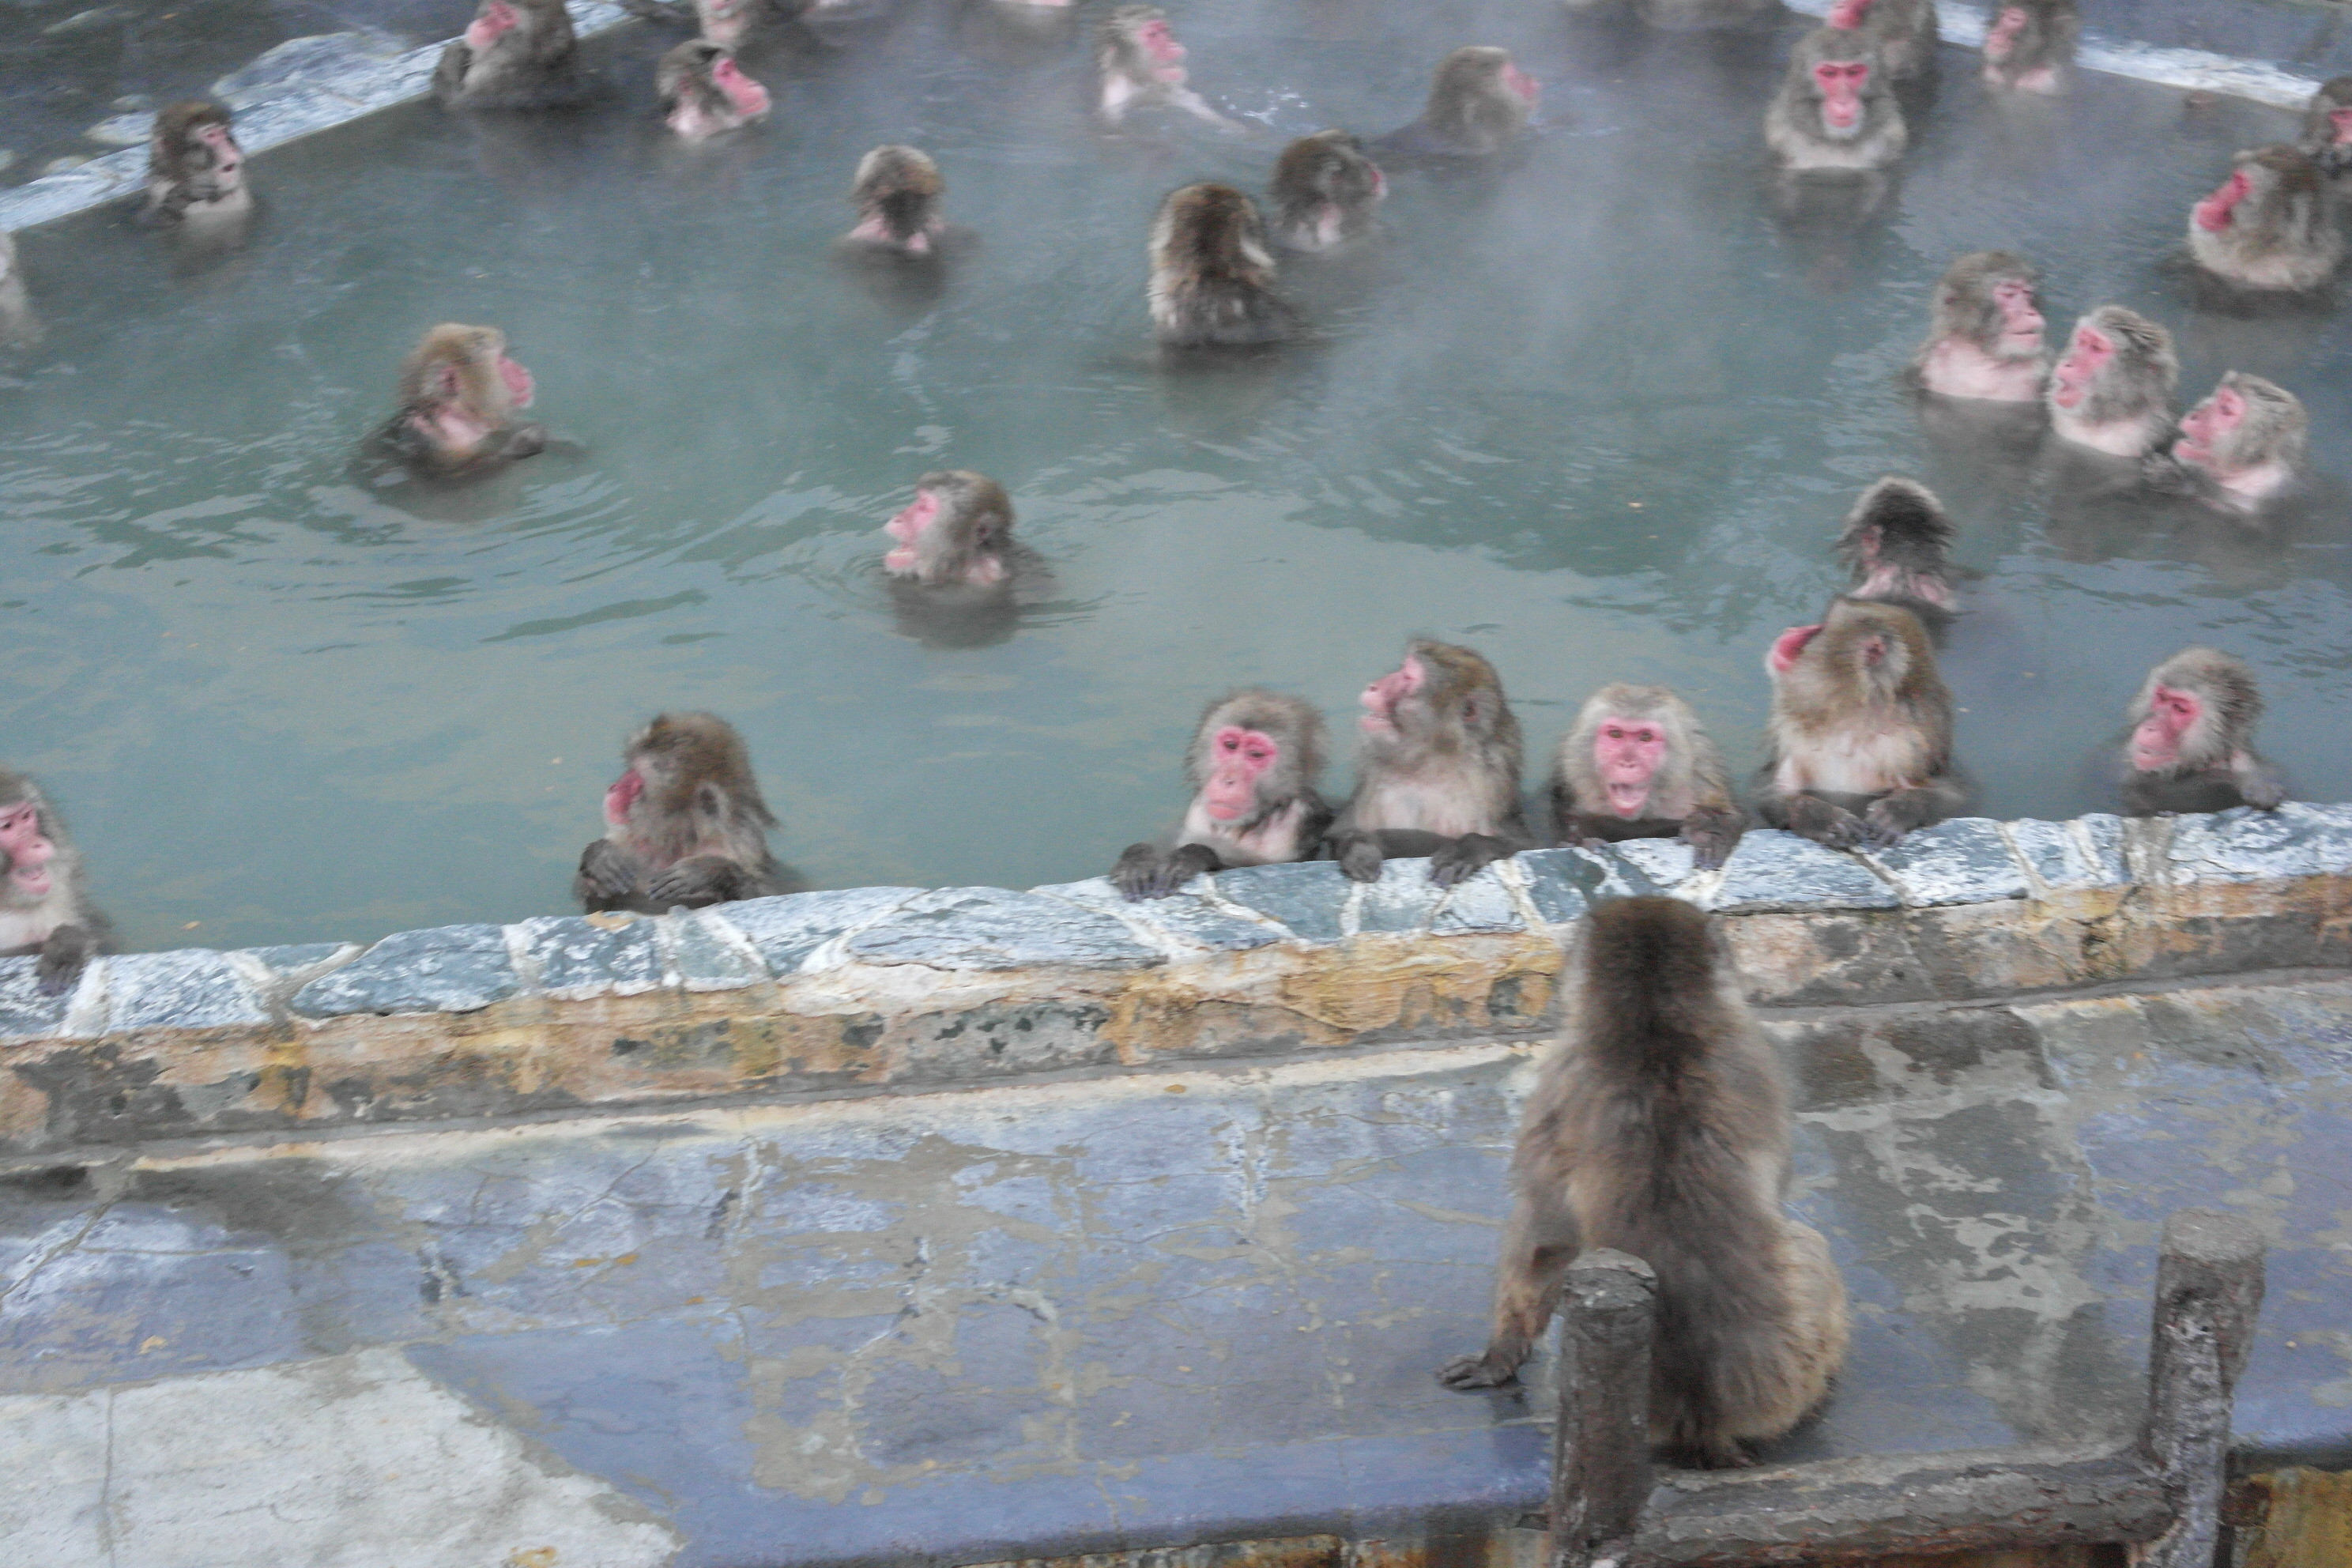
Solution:
[{"label": "macaque leaning on the wall, leftmost of three huddled side by side", "polygon": [[1110,879],[1129,898],[1167,898],[1202,872],[1322,853],[1331,806],[1322,778],[1322,715],[1294,696],[1249,686],[1200,715],[1185,752],[1192,804],[1174,837],[1129,844]]}]

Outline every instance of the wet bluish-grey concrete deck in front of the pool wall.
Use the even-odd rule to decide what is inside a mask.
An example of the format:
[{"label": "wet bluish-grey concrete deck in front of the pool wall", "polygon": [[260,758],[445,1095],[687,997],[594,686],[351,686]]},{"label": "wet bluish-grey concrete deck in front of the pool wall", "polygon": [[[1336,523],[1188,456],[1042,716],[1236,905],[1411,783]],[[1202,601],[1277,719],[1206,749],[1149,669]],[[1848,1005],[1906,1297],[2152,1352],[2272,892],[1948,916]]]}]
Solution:
[{"label": "wet bluish-grey concrete deck in front of the pool wall", "polygon": [[[1856,1302],[1783,1458],[2114,1436],[2161,1215],[2272,1234],[2239,1446],[2352,1448],[2352,983],[1783,1011]],[[1526,1046],[393,1131],[0,1187],[0,1563],[976,1563],[1541,1505]],[[532,1556],[553,1552],[553,1556]]]}]

